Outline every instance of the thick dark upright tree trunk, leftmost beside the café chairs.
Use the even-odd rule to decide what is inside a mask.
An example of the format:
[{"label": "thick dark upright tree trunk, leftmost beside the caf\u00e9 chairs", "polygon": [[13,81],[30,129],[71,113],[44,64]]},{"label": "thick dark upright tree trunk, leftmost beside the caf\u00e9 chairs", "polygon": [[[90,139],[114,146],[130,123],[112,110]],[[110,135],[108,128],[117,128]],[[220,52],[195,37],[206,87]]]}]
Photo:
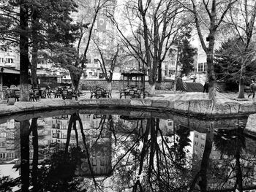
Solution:
[{"label": "thick dark upright tree trunk, leftmost beside the caf\u00e9 chairs", "polygon": [[20,101],[29,101],[29,12],[24,0],[20,1]]}]

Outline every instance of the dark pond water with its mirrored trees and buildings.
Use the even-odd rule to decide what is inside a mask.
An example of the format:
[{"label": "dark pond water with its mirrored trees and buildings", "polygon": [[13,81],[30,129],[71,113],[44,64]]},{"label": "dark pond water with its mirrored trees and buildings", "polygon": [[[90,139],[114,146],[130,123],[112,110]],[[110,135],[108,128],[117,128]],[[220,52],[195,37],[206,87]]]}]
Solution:
[{"label": "dark pond water with its mirrored trees and buildings", "polygon": [[256,145],[244,134],[247,118],[57,114],[1,121],[1,168],[14,164],[18,174],[1,177],[1,191],[256,189]]}]

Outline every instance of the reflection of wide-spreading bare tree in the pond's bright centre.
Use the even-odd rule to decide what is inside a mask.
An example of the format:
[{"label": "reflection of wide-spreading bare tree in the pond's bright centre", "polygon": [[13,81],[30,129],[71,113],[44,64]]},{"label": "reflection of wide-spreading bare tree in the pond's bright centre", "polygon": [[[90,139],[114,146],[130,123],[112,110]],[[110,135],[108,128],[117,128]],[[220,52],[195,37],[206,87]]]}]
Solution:
[{"label": "reflection of wide-spreading bare tree in the pond's bright centre", "polygon": [[[146,122],[146,127],[141,122]],[[118,125],[120,126],[120,123]],[[143,131],[138,131],[141,125]],[[140,120],[135,129],[130,129],[129,134],[127,132],[126,134],[129,137],[123,137],[122,141],[117,142],[118,145],[125,144],[125,152],[118,155],[113,166],[119,174],[117,182],[124,185],[118,190],[124,188],[132,188],[132,191],[187,190],[189,166],[182,167],[181,171],[179,158],[175,158],[176,150],[171,147],[173,142],[163,135],[159,127],[159,119]],[[181,135],[181,140],[187,142],[185,137],[188,136],[189,134]],[[119,134],[117,138],[122,137]],[[130,145],[127,145],[127,140]],[[182,144],[188,145],[188,143]]]}]

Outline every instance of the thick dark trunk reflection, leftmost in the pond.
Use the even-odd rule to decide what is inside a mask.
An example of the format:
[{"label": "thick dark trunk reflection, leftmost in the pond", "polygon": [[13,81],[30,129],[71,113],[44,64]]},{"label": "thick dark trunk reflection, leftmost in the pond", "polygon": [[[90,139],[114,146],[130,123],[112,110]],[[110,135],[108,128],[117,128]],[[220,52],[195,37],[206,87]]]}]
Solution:
[{"label": "thick dark trunk reflection, leftmost in the pond", "polygon": [[20,121],[21,191],[29,191],[29,120]]}]

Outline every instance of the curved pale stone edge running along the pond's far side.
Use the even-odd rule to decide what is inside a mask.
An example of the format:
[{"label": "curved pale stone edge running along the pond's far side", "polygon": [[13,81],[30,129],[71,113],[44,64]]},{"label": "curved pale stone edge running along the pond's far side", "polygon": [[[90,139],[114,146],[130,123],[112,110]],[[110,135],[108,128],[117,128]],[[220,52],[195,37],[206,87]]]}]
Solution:
[{"label": "curved pale stone edge running along the pond's far side", "polygon": [[140,109],[168,110],[192,115],[246,115],[256,112],[256,104],[238,102],[216,103],[211,100],[168,101],[166,99],[41,99],[37,102],[18,101],[14,105],[0,104],[0,115],[34,110],[61,110],[72,107],[135,107]]}]

